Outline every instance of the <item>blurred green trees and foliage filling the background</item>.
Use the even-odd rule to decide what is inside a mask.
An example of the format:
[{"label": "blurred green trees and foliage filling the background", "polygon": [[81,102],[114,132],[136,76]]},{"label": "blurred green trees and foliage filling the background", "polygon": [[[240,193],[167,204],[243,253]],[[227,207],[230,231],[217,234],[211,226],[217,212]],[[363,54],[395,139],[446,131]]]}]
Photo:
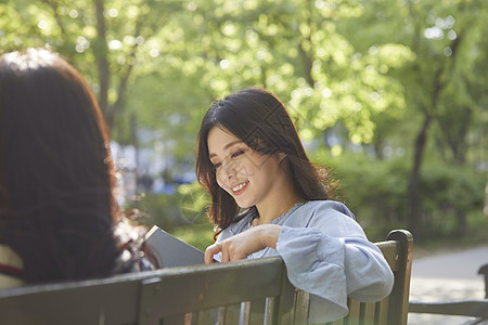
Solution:
[{"label": "blurred green trees and foliage filling the background", "polygon": [[[99,96],[112,138],[164,147],[140,188],[147,224],[203,248],[207,196],[192,170],[215,100],[264,87],[371,239],[487,242],[488,4],[483,0],[0,0],[0,53],[50,47]],[[150,140],[143,134],[151,134]],[[142,171],[139,170],[139,176]],[[488,214],[488,212],[487,212]]]}]

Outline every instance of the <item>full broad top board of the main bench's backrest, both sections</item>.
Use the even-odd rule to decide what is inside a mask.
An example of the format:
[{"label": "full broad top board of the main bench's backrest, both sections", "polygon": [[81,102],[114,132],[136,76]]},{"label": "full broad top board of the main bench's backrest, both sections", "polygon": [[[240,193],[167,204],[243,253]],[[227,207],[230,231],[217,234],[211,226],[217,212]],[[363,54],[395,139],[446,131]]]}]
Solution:
[{"label": "full broad top board of the main bench's backrest, both sections", "polygon": [[[5,324],[18,325],[143,324],[149,314],[158,320],[217,307],[220,301],[278,296],[283,266],[280,258],[270,258],[3,289],[0,314]],[[154,278],[157,280],[151,283]],[[152,292],[139,300],[141,281],[150,282],[147,289]],[[222,287],[242,289],[221,290]]]}]

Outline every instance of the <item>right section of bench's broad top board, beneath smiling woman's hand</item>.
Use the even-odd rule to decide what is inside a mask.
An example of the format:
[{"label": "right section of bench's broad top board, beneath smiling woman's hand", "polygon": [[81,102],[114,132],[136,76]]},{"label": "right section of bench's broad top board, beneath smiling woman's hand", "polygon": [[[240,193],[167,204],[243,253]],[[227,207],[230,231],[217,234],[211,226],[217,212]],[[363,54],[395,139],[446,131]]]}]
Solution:
[{"label": "right section of bench's broad top board, beneath smiling woman's hand", "polygon": [[141,313],[140,322],[209,309],[222,302],[232,304],[278,296],[283,282],[284,263],[280,258],[203,268],[145,280],[141,289],[141,311],[144,314]]}]

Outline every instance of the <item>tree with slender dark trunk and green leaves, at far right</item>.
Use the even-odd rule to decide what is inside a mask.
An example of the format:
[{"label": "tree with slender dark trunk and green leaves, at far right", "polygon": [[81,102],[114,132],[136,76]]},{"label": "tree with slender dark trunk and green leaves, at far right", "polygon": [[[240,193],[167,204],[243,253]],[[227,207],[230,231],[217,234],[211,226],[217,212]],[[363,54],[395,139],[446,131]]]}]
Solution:
[{"label": "tree with slender dark trunk and green leaves, at far right", "polygon": [[[408,185],[409,224],[421,236],[421,168],[429,139],[437,139],[438,148],[449,148],[444,155],[457,164],[466,162],[468,135],[479,130],[486,94],[479,92],[486,77],[479,66],[486,64],[483,36],[487,32],[486,4],[483,1],[363,1],[365,13],[342,27],[348,39],[363,51],[385,42],[398,42],[414,53],[414,60],[395,69],[395,77],[406,91],[410,123],[404,139],[412,139],[412,167]],[[376,21],[375,24],[372,22]],[[356,26],[363,26],[359,32]],[[486,119],[486,118],[485,118]],[[481,118],[483,120],[483,118]],[[391,123],[409,125],[397,120]],[[412,134],[414,128],[419,128]],[[436,133],[432,134],[433,126]],[[386,128],[386,134],[395,132]],[[376,134],[377,135],[377,134]],[[434,141],[431,141],[434,142]],[[434,148],[434,144],[431,144]],[[446,151],[444,151],[446,153]],[[459,231],[466,230],[466,219],[458,213]]]}]

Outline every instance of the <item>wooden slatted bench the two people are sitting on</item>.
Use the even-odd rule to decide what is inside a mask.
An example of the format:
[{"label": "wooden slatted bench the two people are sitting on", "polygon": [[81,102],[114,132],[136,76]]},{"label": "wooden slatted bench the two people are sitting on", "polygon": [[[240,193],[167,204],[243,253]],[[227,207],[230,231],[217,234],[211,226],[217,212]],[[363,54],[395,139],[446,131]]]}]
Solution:
[{"label": "wooden slatted bench the two people are sitting on", "polygon": [[[412,236],[394,231],[376,243],[395,274],[389,297],[349,300],[328,324],[406,325]],[[281,258],[163,269],[103,280],[0,290],[1,324],[306,324],[308,294],[286,277]]]}]

